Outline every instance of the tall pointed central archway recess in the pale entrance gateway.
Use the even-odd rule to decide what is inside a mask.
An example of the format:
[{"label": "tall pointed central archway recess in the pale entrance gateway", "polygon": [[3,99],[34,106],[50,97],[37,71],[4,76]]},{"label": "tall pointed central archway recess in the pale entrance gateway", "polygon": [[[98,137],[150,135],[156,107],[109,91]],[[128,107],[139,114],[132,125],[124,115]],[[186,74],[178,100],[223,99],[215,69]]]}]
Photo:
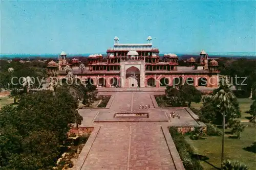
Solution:
[{"label": "tall pointed central archway recess in the pale entrance gateway", "polygon": [[140,70],[132,66],[126,69],[125,87],[140,87]]}]

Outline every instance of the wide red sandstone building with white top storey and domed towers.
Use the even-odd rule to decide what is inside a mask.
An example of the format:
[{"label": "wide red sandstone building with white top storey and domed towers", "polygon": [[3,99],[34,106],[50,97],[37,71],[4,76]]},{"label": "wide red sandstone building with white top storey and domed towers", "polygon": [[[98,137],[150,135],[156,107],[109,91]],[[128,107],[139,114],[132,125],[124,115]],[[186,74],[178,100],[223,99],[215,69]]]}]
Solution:
[{"label": "wide red sandstone building with white top storey and domed towers", "polygon": [[181,67],[175,54],[164,54],[160,60],[159,50],[151,41],[152,37],[148,36],[147,43],[126,44],[119,43],[119,38],[115,37],[113,47],[106,51],[106,58],[101,54],[91,54],[85,66],[80,66],[75,58],[68,61],[67,54],[62,52],[58,64],[48,63],[49,71],[58,68],[59,79],[66,80],[65,70],[70,67],[76,79],[98,87],[143,88],[180,83],[218,86],[218,62],[210,61],[205,51],[197,59],[188,59],[189,67]]}]

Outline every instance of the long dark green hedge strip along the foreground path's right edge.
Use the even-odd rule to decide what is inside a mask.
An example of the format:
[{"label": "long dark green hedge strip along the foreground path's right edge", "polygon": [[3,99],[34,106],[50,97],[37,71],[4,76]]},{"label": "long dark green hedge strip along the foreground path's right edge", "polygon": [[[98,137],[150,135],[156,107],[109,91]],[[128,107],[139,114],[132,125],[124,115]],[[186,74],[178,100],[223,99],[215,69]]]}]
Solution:
[{"label": "long dark green hedge strip along the foreground path's right edge", "polygon": [[179,133],[175,127],[170,127],[169,132],[173,137],[175,146],[185,169],[202,170],[203,168],[200,164],[200,161],[194,157],[194,151],[185,140],[185,136]]}]

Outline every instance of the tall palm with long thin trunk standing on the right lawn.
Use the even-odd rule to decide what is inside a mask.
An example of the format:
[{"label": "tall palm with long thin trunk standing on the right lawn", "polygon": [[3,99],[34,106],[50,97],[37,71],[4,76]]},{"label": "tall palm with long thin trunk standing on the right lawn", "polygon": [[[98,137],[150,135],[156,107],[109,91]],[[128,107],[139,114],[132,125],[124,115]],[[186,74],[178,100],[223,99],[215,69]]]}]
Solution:
[{"label": "tall palm with long thin trunk standing on the right lawn", "polygon": [[220,102],[219,108],[223,109],[223,123],[222,123],[222,152],[221,152],[221,167],[223,168],[223,157],[224,157],[224,135],[225,135],[225,115],[232,107],[231,101],[236,98],[230,86],[226,83],[225,79],[220,82],[220,87],[217,89],[217,93],[212,96],[213,100]]}]

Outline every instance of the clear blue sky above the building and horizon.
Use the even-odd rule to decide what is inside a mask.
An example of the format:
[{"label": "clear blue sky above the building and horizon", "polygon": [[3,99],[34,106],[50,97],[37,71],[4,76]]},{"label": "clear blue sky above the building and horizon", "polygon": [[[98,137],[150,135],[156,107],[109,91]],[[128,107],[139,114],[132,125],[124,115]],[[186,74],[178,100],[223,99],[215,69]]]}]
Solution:
[{"label": "clear blue sky above the building and horizon", "polygon": [[103,53],[120,43],[160,52],[255,52],[255,1],[2,1],[0,53]]}]

